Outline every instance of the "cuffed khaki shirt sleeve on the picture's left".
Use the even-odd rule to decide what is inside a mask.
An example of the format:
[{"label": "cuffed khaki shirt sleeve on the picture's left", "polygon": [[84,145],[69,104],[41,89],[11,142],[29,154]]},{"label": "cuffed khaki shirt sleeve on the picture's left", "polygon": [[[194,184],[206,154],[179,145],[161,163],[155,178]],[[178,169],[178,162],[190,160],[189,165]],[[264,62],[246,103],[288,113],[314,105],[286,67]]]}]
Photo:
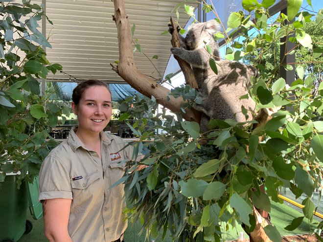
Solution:
[{"label": "cuffed khaki shirt sleeve on the picture's left", "polygon": [[39,173],[39,200],[53,198],[72,199],[69,171],[62,161],[47,156]]}]

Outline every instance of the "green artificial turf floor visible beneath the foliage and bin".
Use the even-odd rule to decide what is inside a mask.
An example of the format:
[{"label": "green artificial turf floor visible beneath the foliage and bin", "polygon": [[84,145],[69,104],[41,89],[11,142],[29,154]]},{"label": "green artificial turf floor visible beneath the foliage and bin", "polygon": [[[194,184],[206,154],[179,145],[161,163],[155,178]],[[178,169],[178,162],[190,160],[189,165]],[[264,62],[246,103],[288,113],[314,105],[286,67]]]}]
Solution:
[{"label": "green artificial turf floor visible beneath the foliage and bin", "polygon": [[[301,213],[295,210],[292,207],[287,206],[286,204],[278,204],[272,203],[272,211],[271,211],[271,218],[273,224],[276,225],[278,231],[282,236],[284,235],[294,235],[294,234],[308,234],[311,233],[315,225],[309,225],[305,221],[300,225],[299,228],[290,232],[286,231],[284,227],[286,227],[290,221],[294,218],[300,217]],[[33,223],[33,229],[27,235],[23,235],[19,242],[46,242],[46,237],[44,236],[43,232],[43,220],[33,220],[28,213],[28,219]],[[318,222],[318,220],[315,220]],[[140,231],[140,224],[129,224],[128,229],[125,233],[125,242],[144,242],[145,235],[138,236],[138,232]],[[226,232],[222,237],[223,241],[235,240],[239,238],[240,232],[243,232],[241,226],[238,225],[237,229],[232,228],[231,231]],[[246,236],[246,235],[245,235]],[[247,238],[247,237],[245,237]],[[148,242],[151,242],[153,238],[149,238]],[[161,242],[161,238],[154,239],[155,242]],[[147,241],[147,240],[146,240]],[[172,242],[170,236],[166,236],[164,242]]]}]

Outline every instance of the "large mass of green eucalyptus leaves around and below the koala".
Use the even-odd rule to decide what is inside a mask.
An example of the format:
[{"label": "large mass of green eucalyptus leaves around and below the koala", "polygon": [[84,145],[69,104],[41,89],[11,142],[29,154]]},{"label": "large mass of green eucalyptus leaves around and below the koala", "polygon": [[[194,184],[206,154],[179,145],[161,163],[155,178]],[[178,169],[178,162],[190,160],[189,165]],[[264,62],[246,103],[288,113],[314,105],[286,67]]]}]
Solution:
[{"label": "large mass of green eucalyptus leaves around and below the koala", "polygon": [[[275,22],[281,26],[267,25],[267,9],[274,2],[243,0],[243,8],[254,11],[257,20],[252,22],[251,15],[239,11],[228,21],[230,28],[242,30],[243,41],[231,40],[227,57],[239,60],[251,55],[255,59],[260,78],[251,80],[250,95],[257,110],[276,110],[269,122],[254,128],[255,121],[212,119],[210,131],[202,134],[196,122],[184,121],[181,116],[203,100],[188,86],[169,93],[188,101],[176,115],[164,109],[157,113],[155,98],[128,100],[134,104],[128,109],[129,115],[143,120],[134,155],[143,153],[145,157],[131,163],[131,172],[123,179],[129,217],[142,221],[148,233],[165,235],[168,229],[180,242],[218,242],[224,230],[240,224],[252,231],[253,206],[270,212],[271,200],[282,203],[278,197],[282,187],[289,188],[295,198],[302,194],[307,197],[302,201],[304,216],[286,223],[286,229],[297,228],[304,219],[313,221],[316,204],[310,198],[315,191],[322,195],[323,184],[323,84],[313,85],[305,68],[299,67],[297,79],[286,85],[286,80],[276,75],[279,61],[263,66],[262,60],[278,58],[272,50],[277,47],[275,43],[281,44],[282,37],[295,34],[290,41],[307,51],[312,44],[315,48],[304,31],[310,14],[298,13],[299,0],[289,1],[291,15],[277,17]],[[185,9],[192,12],[187,6]],[[296,24],[289,24],[288,19],[294,16],[298,17]],[[251,32],[255,34],[249,36]],[[148,119],[143,116],[144,110],[155,114],[150,120],[155,122],[157,134],[154,129],[145,129]],[[138,165],[146,167],[134,170]],[[260,191],[260,185],[266,187],[266,193]],[[318,224],[318,234],[322,226]],[[275,224],[266,226],[265,232],[272,241],[281,241]]]}]

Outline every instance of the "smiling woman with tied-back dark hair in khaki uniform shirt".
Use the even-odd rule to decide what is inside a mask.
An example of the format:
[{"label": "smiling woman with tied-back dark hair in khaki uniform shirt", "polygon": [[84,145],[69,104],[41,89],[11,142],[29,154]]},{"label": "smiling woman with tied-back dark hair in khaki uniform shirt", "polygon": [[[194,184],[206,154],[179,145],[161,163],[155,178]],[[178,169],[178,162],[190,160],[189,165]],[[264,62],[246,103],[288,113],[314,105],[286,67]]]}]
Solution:
[{"label": "smiling woman with tied-back dark hair in khaki uniform shirt", "polygon": [[98,80],[73,90],[78,126],[53,149],[40,171],[45,235],[53,242],[122,242],[127,220],[124,174],[133,149],[103,129],[111,119],[111,92]]}]

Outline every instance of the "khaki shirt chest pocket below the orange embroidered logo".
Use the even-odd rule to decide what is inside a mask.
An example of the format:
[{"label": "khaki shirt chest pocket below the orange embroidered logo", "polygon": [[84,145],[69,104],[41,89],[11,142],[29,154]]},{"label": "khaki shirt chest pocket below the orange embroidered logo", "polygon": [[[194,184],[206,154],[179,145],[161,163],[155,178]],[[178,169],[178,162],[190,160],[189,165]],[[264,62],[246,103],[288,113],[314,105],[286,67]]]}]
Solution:
[{"label": "khaki shirt chest pocket below the orange embroidered logo", "polygon": [[[115,184],[122,176],[124,175],[125,171],[125,163],[111,163],[108,165],[109,174],[110,174],[110,184],[111,186]],[[112,195],[115,197],[120,197],[124,195],[124,183],[120,183],[111,189]]]}]

